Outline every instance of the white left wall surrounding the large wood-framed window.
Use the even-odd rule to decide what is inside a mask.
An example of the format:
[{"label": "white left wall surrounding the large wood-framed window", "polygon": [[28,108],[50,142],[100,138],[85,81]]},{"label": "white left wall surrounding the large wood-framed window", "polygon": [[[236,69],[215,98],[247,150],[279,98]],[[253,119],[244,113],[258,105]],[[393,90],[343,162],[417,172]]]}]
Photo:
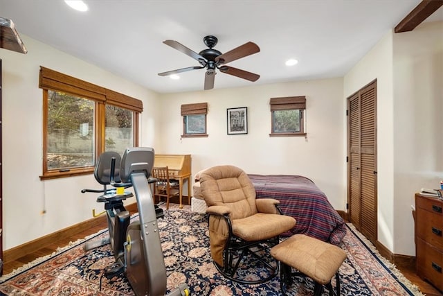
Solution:
[{"label": "white left wall surrounding the large wood-framed window", "polygon": [[[157,94],[50,46],[21,35],[28,53],[0,49],[3,65],[3,249],[26,243],[91,218],[102,209],[93,175],[40,181],[42,175],[42,89],[39,66],[87,80],[143,101],[141,146],[158,145]],[[130,65],[128,65],[130,67]],[[42,211],[46,209],[46,214]]]}]

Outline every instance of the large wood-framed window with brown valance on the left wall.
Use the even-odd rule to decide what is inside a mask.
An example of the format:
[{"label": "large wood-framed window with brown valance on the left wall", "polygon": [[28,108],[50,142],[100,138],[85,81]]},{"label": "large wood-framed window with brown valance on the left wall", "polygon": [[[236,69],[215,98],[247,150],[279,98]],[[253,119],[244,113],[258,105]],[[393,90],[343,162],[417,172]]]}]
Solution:
[{"label": "large wood-framed window with brown valance on the left wall", "polygon": [[105,150],[138,145],[142,102],[41,67],[43,175],[41,179],[93,172]]}]

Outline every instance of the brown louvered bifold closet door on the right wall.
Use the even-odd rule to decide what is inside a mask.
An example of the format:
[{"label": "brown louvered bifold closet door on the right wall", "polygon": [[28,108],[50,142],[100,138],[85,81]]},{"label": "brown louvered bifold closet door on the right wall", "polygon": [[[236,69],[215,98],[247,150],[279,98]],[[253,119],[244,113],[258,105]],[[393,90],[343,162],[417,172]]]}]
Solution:
[{"label": "brown louvered bifold closet door on the right wall", "polygon": [[377,82],[348,98],[350,221],[377,241]]}]

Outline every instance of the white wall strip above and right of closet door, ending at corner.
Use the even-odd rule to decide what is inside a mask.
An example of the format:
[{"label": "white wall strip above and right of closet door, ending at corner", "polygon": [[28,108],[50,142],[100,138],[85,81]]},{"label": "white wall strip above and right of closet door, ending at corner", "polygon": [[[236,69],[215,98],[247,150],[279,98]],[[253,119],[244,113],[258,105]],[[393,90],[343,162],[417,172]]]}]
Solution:
[{"label": "white wall strip above and right of closet door, ending at corner", "polygon": [[[392,89],[392,33],[388,32],[344,78],[348,96],[377,78],[378,241],[393,250],[394,242],[394,103]],[[346,131],[344,131],[346,132]]]}]

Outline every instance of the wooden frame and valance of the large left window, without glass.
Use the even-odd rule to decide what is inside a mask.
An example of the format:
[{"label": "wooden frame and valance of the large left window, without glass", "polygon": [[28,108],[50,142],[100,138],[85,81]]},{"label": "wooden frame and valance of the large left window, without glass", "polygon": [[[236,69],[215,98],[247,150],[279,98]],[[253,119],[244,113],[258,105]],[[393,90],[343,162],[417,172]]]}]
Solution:
[{"label": "wooden frame and valance of the large left window, without glass", "polygon": [[106,105],[114,105],[134,112],[134,146],[138,146],[138,132],[139,132],[139,114],[143,112],[143,102],[127,96],[114,92],[111,89],[94,85],[93,83],[80,80],[78,78],[66,75],[40,66],[39,73],[39,88],[43,89],[43,173],[40,175],[40,180],[55,179],[61,177],[71,177],[75,175],[86,175],[93,173],[94,166],[84,168],[66,168],[57,170],[48,170],[47,153],[48,153],[48,90],[55,92],[64,92],[67,94],[73,94],[82,98],[87,98],[91,101],[95,101],[95,157],[101,155],[105,150],[105,107]]}]

